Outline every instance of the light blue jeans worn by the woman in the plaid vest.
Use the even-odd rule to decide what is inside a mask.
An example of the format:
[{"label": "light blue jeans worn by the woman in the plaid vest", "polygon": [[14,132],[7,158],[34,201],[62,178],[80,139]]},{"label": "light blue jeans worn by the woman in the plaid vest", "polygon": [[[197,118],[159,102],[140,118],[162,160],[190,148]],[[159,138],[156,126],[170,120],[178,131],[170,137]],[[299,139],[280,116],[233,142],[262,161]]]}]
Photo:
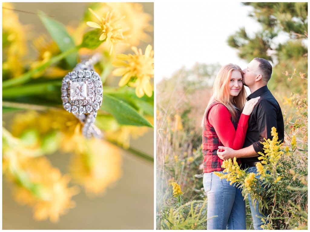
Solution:
[{"label": "light blue jeans worn by the woman in the plaid vest", "polygon": [[[245,230],[246,205],[241,190],[226,179],[219,179],[213,172],[203,175],[203,187],[207,193],[207,230]],[[210,218],[212,216],[216,216]]]}]

